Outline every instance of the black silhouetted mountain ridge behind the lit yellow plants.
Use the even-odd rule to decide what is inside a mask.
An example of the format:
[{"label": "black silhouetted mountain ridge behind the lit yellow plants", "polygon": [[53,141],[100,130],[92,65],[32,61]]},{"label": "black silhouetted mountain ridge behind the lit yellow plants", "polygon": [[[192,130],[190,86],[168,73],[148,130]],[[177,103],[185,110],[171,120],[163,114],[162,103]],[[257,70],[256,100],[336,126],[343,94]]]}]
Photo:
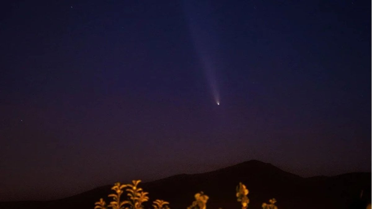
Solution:
[{"label": "black silhouetted mountain ridge behind the lit yellow plants", "polygon": [[[273,197],[278,200],[279,209],[346,209],[371,202],[371,173],[303,178],[257,160],[207,173],[179,174],[140,185],[150,193],[150,201],[167,200],[173,209],[185,209],[193,201],[193,195],[200,191],[209,196],[208,208],[238,209],[240,205],[235,198],[235,187],[240,181],[249,189],[249,208],[259,209],[263,202]],[[94,202],[99,198],[108,202],[110,188],[103,186],[54,201],[0,202],[0,209],[93,209]],[[145,206],[150,208],[151,203]]]}]

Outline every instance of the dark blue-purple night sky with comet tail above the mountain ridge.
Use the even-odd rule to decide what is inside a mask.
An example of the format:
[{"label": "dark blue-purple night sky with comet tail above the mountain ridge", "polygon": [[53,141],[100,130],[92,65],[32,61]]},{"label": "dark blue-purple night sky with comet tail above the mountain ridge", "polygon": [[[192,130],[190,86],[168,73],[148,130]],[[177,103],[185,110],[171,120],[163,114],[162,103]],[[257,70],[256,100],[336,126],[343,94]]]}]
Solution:
[{"label": "dark blue-purple night sky with comet tail above the mountain ridge", "polygon": [[370,1],[0,8],[0,200],[251,159],[371,171]]}]

